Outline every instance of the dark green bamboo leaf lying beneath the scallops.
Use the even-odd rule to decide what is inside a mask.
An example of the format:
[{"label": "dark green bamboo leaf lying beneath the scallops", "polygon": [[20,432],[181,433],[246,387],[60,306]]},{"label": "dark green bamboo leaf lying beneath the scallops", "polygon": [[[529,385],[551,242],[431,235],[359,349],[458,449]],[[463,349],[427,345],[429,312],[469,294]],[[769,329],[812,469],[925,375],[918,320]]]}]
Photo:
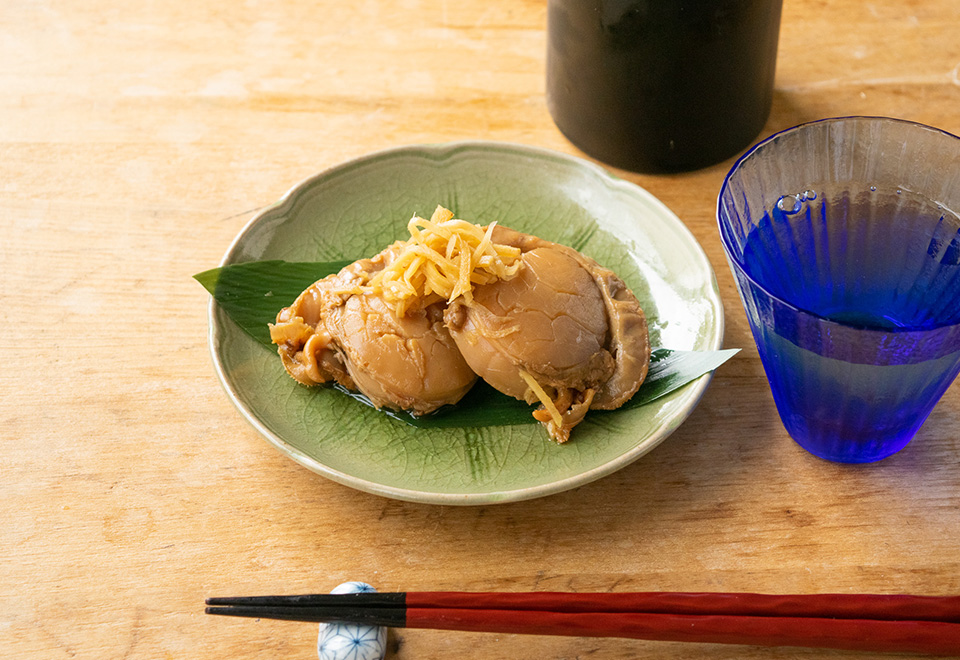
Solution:
[{"label": "dark green bamboo leaf lying beneath the scallops", "polygon": [[[254,261],[214,268],[194,275],[237,325],[273,351],[268,324],[308,286],[349,264],[337,262]],[[659,348],[650,358],[646,380],[622,408],[635,408],[665,396],[713,371],[739,349],[675,351]],[[364,395],[334,386],[346,395],[372,406]],[[513,426],[533,424],[535,406],[508,397],[483,381],[455,406],[446,406],[423,417],[382,409],[394,419],[418,428]],[[591,415],[604,414],[594,411]]]}]

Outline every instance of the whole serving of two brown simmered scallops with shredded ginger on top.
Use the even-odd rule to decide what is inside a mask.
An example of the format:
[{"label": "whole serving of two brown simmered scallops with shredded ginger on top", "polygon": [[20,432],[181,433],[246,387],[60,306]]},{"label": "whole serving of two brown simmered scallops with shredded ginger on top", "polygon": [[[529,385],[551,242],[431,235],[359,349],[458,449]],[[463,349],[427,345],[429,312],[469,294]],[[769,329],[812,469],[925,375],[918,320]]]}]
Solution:
[{"label": "whole serving of two brown simmered scallops with shredded ginger on top", "polygon": [[286,370],[334,380],[377,407],[425,414],[477,376],[542,404],[566,442],[591,408],[636,393],[650,361],[647,323],[623,281],[578,251],[438,206],[397,241],[314,283],[277,315]]}]

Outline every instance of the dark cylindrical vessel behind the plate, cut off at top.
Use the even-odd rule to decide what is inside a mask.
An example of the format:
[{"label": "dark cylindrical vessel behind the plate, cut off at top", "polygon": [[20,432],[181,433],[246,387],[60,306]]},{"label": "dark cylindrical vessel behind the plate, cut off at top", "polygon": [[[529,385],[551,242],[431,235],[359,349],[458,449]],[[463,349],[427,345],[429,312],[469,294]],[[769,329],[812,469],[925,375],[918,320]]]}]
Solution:
[{"label": "dark cylindrical vessel behind the plate, cut off at top", "polygon": [[781,0],[549,0],[554,121],[615,167],[719,163],[770,113],[780,10]]}]

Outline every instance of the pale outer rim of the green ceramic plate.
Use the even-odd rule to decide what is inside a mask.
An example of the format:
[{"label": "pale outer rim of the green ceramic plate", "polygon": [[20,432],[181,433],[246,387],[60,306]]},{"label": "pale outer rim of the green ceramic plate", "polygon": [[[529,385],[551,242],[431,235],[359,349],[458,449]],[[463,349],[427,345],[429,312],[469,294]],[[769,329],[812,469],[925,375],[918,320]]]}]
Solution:
[{"label": "pale outer rim of the green ceramic plate", "polygon": [[[254,227],[264,218],[281,212],[284,209],[292,208],[295,196],[301,190],[309,188],[313,184],[325,179],[326,177],[329,177],[332,174],[335,174],[339,171],[344,171],[348,168],[361,166],[366,162],[379,160],[383,159],[384,157],[402,153],[412,153],[420,156],[426,156],[429,154],[435,159],[439,160],[443,157],[450,157],[450,155],[458,151],[489,151],[491,149],[501,152],[509,152],[511,155],[549,158],[564,162],[571,166],[585,168],[595,177],[597,177],[598,180],[602,181],[608,187],[616,190],[618,193],[642,197],[646,203],[657,208],[659,214],[661,215],[661,220],[669,220],[670,224],[672,225],[671,228],[683,235],[688,241],[688,247],[691,248],[696,254],[698,260],[702,262],[701,266],[709,275],[710,286],[708,288],[712,294],[712,298],[710,298],[709,301],[712,303],[716,321],[714,323],[713,332],[708,337],[709,347],[705,350],[720,350],[723,345],[725,318],[723,301],[720,297],[716,272],[714,271],[713,265],[710,263],[703,246],[700,245],[699,241],[697,241],[689,227],[687,227],[686,224],[684,224],[684,222],[666,204],[664,204],[642,186],[622,179],[596,163],[585,160],[578,156],[548,149],[546,147],[495,140],[458,140],[451,142],[411,143],[406,145],[398,145],[349,158],[301,179],[297,183],[290,186],[277,201],[257,211],[231,241],[229,247],[224,253],[224,256],[219,262],[219,266],[224,267],[234,263],[232,260],[234,253],[239,250],[246,235],[251,232]],[[207,335],[208,349],[213,359],[214,370],[217,374],[218,380],[220,381],[220,385],[227,394],[227,397],[240,411],[241,415],[246,419],[246,421],[251,424],[251,426],[253,426],[253,428],[260,433],[260,435],[262,435],[271,445],[273,445],[281,453],[285,454],[288,458],[292,459],[294,462],[298,463],[302,467],[307,468],[311,472],[330,479],[331,481],[348,486],[355,490],[379,495],[381,497],[421,504],[479,506],[518,502],[554,495],[592,483],[593,481],[625,468],[640,457],[649,453],[655,447],[660,445],[660,443],[666,440],[670,435],[672,435],[673,432],[676,431],[676,429],[679,428],[693,413],[713,379],[713,372],[711,371],[684,385],[680,390],[681,392],[685,393],[684,398],[686,400],[683,402],[683,405],[679,410],[675,411],[668,418],[664,419],[660,427],[654,433],[645,438],[642,442],[638,443],[636,446],[632,447],[630,450],[619,454],[612,460],[607,461],[602,465],[595,466],[589,470],[579,472],[574,476],[536,486],[491,490],[477,493],[444,493],[429,490],[416,490],[381,484],[376,481],[357,477],[342,470],[332,468],[329,465],[326,465],[309,454],[303,452],[297,447],[289,444],[282,437],[267,428],[267,426],[257,416],[256,412],[244,404],[239,396],[239,393],[234,389],[230,379],[228,378],[226,369],[218,354],[218,346],[224,330],[220,327],[219,319],[217,318],[217,310],[218,306],[216,300],[213,298],[213,296],[211,296],[207,306]]]}]

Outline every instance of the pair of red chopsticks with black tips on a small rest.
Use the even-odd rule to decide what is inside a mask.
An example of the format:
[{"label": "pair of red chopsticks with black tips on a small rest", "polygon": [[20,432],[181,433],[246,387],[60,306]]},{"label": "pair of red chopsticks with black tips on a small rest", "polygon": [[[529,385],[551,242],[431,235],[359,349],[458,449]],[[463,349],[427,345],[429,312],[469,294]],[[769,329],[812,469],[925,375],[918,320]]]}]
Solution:
[{"label": "pair of red chopsticks with black tips on a small rest", "polygon": [[407,592],[210,598],[211,614],[534,635],[960,653],[960,597]]}]

